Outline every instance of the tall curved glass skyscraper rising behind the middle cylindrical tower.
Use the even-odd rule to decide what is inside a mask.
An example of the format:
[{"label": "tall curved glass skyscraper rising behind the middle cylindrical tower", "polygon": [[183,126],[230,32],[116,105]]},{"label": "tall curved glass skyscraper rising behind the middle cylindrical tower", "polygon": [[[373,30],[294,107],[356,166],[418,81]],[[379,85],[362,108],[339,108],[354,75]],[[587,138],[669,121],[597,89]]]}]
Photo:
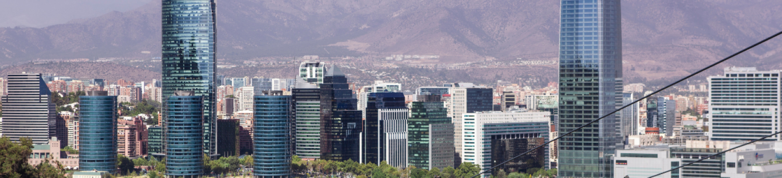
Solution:
[{"label": "tall curved glass skyscraper rising behind the middle cylindrical tower", "polygon": [[216,154],[217,130],[214,15],[214,0],[163,0],[163,98],[174,91],[204,97],[203,151],[210,155]]}]

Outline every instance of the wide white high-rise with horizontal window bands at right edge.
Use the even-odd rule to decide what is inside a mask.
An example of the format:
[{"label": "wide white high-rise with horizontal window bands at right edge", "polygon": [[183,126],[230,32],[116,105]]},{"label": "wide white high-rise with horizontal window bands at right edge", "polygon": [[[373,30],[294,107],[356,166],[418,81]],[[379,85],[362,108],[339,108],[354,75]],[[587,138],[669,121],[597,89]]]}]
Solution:
[{"label": "wide white high-rise with horizontal window bands at right edge", "polygon": [[724,71],[722,76],[708,77],[706,135],[712,141],[749,141],[779,132],[782,70],[727,67]]}]

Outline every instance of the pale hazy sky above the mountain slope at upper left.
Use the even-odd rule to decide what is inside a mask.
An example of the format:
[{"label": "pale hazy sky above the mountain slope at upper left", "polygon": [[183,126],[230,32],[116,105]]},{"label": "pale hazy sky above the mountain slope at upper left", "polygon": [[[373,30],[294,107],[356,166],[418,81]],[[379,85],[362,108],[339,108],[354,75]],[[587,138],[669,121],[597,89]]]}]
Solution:
[{"label": "pale hazy sky above the mountain slope at upper left", "polygon": [[0,0],[0,27],[47,27],[106,12],[136,9],[152,0]]}]

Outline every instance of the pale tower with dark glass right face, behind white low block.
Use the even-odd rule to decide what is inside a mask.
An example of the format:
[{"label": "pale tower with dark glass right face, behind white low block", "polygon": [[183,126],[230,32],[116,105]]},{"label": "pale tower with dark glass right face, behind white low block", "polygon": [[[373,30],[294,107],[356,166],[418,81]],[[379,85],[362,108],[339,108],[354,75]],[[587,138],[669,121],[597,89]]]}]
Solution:
[{"label": "pale tower with dark glass right face, behind white low block", "polygon": [[[470,83],[457,83],[450,89],[449,116],[454,123],[454,146],[461,154],[461,116],[464,113],[493,111],[493,91],[489,87],[478,87]],[[461,158],[457,159],[461,161]]]}]

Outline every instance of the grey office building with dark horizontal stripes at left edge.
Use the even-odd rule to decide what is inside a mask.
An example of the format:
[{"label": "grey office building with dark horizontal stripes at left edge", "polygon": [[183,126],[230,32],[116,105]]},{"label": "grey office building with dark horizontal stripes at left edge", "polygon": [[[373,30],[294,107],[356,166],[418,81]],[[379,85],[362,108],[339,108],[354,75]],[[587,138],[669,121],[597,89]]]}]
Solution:
[{"label": "grey office building with dark horizontal stripes at left edge", "polygon": [[11,141],[30,137],[46,144],[56,135],[56,110],[52,92],[40,73],[8,74],[9,92],[2,97],[3,136]]}]

